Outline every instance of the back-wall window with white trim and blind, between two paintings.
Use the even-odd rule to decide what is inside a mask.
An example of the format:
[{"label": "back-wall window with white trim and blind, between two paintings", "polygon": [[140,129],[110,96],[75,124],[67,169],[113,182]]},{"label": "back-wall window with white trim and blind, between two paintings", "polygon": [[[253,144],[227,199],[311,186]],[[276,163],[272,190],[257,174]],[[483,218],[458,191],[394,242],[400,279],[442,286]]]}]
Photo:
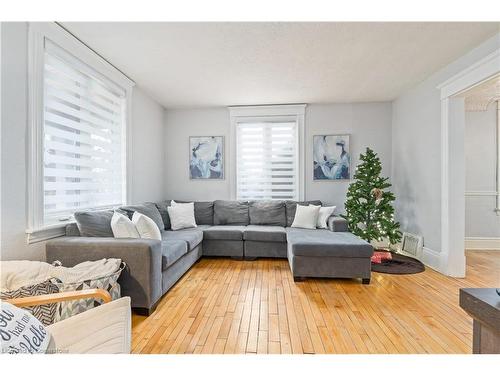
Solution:
[{"label": "back-wall window with white trim and blind, between two paintings", "polygon": [[304,107],[230,108],[235,199],[303,198]]}]

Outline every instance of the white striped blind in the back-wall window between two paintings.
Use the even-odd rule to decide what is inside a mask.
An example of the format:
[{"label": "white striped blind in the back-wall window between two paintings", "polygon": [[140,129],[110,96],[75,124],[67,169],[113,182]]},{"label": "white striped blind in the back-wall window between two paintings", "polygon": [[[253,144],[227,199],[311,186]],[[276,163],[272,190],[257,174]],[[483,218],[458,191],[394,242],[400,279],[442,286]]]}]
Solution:
[{"label": "white striped blind in the back-wall window between two paintings", "polygon": [[237,199],[297,200],[296,122],[243,122],[236,126]]}]

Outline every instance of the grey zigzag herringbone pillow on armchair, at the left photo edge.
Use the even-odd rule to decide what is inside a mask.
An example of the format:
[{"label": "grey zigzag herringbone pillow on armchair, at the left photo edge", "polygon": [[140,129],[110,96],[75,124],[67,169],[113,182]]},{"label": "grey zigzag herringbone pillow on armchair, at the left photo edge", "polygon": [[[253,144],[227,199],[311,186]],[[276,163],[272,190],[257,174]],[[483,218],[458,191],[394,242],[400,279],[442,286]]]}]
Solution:
[{"label": "grey zigzag herringbone pillow on armchair, at the left photo edge", "polygon": [[[23,286],[17,290],[0,292],[0,299],[41,296],[58,292],[59,288],[57,285],[53,284],[51,280],[46,280],[39,284]],[[56,308],[57,304],[51,303],[47,305],[25,307],[24,309],[29,311],[35,318],[42,322],[43,325],[48,326],[54,323]]]}]

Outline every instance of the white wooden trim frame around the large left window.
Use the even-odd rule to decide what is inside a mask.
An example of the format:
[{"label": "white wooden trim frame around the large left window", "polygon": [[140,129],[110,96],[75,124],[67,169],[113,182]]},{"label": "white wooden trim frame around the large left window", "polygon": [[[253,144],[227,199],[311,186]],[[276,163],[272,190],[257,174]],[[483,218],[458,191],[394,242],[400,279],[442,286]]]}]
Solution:
[{"label": "white wooden trim frame around the large left window", "polygon": [[43,222],[43,155],[44,155],[44,54],[45,39],[57,44],[70,55],[88,65],[114,85],[125,91],[125,123],[122,134],[124,150],[125,202],[131,197],[130,132],[132,119],[132,89],[135,83],[96,52],[56,23],[28,24],[28,168],[27,168],[27,242],[34,243],[64,235],[65,221],[46,225]]}]

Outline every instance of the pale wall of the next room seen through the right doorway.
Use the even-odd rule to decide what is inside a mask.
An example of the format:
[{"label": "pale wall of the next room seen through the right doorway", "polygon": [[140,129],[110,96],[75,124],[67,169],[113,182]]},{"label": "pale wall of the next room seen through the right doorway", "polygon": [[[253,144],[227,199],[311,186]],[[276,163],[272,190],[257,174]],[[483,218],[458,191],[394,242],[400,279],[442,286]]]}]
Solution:
[{"label": "pale wall of the next room seen through the right doorway", "polygon": [[496,197],[497,107],[465,113],[465,237],[500,238]]}]

